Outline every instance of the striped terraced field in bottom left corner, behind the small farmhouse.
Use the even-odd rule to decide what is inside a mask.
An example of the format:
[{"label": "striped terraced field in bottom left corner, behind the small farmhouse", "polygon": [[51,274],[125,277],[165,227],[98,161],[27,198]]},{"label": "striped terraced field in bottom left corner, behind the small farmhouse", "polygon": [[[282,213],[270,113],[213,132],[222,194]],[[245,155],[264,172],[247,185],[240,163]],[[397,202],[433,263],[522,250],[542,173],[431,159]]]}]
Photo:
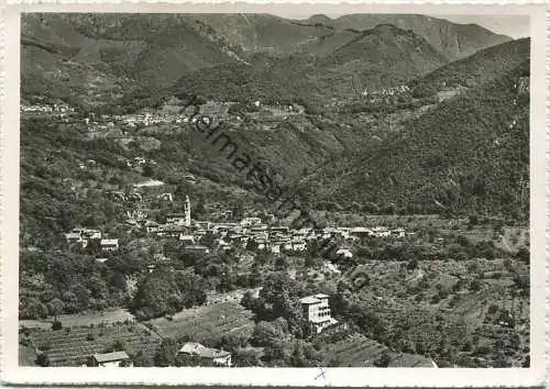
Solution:
[{"label": "striped terraced field in bottom left corner, behind the small farmhouse", "polygon": [[[67,329],[68,330],[68,329]],[[52,366],[78,366],[96,353],[103,353],[120,342],[130,355],[140,351],[153,357],[161,337],[141,324],[114,324],[95,327],[72,327],[59,331],[33,331],[31,341],[47,353]]]}]

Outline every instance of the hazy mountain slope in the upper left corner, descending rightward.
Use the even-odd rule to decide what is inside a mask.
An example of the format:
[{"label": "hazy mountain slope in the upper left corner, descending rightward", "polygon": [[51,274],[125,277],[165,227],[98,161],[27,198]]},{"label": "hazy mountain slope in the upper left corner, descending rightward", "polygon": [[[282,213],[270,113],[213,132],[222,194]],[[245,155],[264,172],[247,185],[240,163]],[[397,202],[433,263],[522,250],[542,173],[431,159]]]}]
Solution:
[{"label": "hazy mountain slope in the upper left corner, descending rightward", "polygon": [[62,98],[74,90],[108,102],[111,93],[97,84],[117,85],[113,95],[167,86],[186,73],[242,60],[231,48],[177,15],[25,14],[22,89],[34,93],[42,88]]}]

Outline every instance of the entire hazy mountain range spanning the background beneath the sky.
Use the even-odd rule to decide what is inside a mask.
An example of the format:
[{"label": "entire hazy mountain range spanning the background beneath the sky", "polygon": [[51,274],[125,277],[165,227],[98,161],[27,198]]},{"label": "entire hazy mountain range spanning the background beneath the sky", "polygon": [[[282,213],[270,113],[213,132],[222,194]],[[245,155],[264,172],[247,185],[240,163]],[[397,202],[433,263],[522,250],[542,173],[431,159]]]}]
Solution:
[{"label": "entire hazy mountain range spanning the background beneath the sky", "polygon": [[[389,29],[386,40],[384,29],[375,29],[381,23],[410,29],[435,49],[426,49],[422,43],[418,55],[399,54],[414,47],[388,42],[406,34]],[[366,42],[375,35],[377,44]],[[283,79],[297,89],[320,89],[319,95],[327,95],[327,82],[349,84],[341,77],[350,74],[374,86],[399,84],[505,38],[479,26],[422,15],[349,15],[337,20],[318,15],[293,21],[270,14],[29,13],[22,19],[22,92],[72,100],[78,95],[85,105],[116,107],[122,96],[136,89],[169,87],[196,71],[200,78],[213,67],[223,73],[237,66],[237,73],[245,75],[250,71],[246,66],[260,59],[257,66],[297,65],[282,77],[251,71],[271,79],[268,85]],[[387,58],[375,64],[381,53]],[[372,58],[362,65],[364,54]],[[391,71],[369,76],[386,65],[393,65]],[[323,66],[322,71],[318,66]],[[289,70],[295,74],[288,76]],[[244,88],[249,89],[254,88]]]}]

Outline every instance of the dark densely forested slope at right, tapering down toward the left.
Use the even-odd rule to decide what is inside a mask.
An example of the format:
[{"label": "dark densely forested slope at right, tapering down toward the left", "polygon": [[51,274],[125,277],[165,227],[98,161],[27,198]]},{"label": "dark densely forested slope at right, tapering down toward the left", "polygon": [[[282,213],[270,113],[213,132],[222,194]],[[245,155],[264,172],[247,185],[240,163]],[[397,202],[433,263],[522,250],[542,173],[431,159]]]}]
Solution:
[{"label": "dark densely forested slope at right, tapering down toward the left", "polygon": [[528,76],[526,60],[441,102],[409,121],[406,131],[319,174],[312,190],[327,199],[409,211],[527,215],[529,95],[518,85]]}]

